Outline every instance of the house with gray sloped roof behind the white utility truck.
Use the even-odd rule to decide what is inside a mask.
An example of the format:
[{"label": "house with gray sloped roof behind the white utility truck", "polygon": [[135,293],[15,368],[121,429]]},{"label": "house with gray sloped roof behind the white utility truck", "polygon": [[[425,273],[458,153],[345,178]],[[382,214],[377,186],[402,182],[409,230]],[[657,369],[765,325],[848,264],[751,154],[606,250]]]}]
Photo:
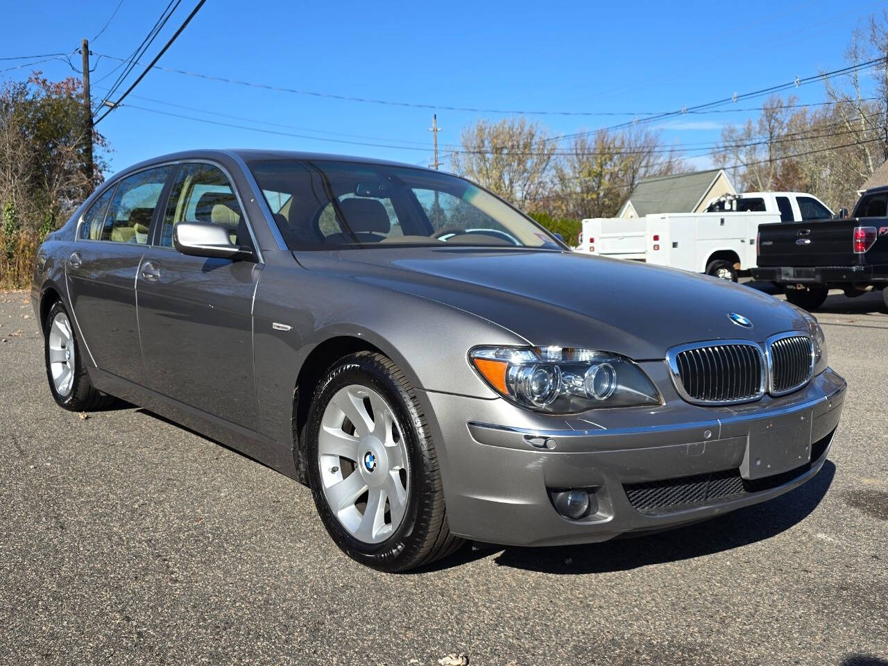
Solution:
[{"label": "house with gray sloped roof behind the white utility truck", "polygon": [[617,217],[643,218],[649,213],[697,213],[705,210],[712,199],[725,194],[737,192],[724,169],[645,178],[622,205]]}]

